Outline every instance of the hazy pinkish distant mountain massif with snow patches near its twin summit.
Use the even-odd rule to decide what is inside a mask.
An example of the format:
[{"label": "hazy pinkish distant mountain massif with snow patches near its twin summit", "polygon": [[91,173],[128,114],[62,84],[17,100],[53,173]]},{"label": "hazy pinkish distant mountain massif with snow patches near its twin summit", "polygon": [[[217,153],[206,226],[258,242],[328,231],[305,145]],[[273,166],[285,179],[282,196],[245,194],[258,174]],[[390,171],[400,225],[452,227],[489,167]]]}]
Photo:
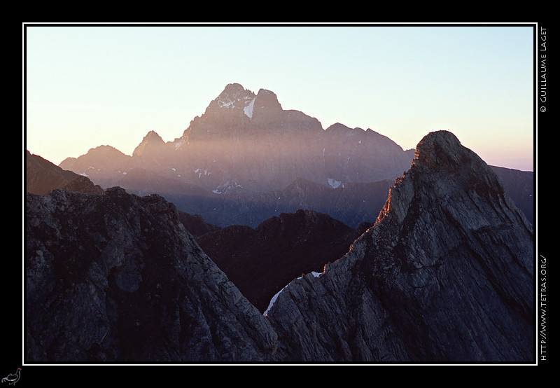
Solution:
[{"label": "hazy pinkish distant mountain massif with snow patches near its twin summit", "polygon": [[[356,185],[386,186],[409,169],[412,158],[414,150],[403,150],[372,129],[342,123],[323,129],[316,118],[283,109],[270,90],[255,93],[230,83],[173,141],[151,130],[132,155],[99,146],[60,167],[103,188],[160,193],[181,211],[217,226],[256,227],[279,212],[315,209],[314,197],[321,195],[321,204],[330,207],[316,210],[356,228],[373,221],[386,199],[386,193],[367,193]],[[293,193],[297,181],[315,189],[288,205],[282,193]],[[508,173],[508,187],[519,187],[516,174]],[[337,191],[323,193],[323,188]],[[533,200],[526,188],[516,202],[529,214]]]}]

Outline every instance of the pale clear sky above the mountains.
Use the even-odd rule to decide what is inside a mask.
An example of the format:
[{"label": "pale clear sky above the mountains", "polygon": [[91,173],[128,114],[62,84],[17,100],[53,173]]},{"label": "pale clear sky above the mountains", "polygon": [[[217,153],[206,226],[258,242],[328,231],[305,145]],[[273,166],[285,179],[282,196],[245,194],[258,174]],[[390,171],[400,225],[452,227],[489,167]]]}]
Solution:
[{"label": "pale clear sky above the mountains", "polygon": [[533,169],[533,26],[25,28],[25,146],[58,164],[103,144],[180,137],[228,83],[402,148],[454,132],[487,163]]}]

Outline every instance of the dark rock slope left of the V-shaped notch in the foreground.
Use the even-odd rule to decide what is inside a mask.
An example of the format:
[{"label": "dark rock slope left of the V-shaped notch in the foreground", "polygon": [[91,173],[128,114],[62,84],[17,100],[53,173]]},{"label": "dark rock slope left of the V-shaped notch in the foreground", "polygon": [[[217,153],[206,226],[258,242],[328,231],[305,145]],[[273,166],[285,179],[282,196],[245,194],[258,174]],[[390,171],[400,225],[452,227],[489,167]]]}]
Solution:
[{"label": "dark rock slope left of the V-shaped notch in the foreground", "polygon": [[28,362],[261,361],[276,333],[159,195],[27,194]]}]

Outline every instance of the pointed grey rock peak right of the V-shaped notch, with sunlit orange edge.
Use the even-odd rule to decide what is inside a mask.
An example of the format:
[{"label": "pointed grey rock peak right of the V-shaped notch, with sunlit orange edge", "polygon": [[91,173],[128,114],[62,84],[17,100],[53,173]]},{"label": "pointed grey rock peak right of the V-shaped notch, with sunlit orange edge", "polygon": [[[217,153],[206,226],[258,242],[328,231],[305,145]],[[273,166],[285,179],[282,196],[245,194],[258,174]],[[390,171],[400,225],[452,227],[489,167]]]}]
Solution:
[{"label": "pointed grey rock peak right of the V-shaped notch, with sunlit orange edge", "polygon": [[532,361],[533,228],[450,132],[428,134],[372,228],[267,317],[290,361]]}]

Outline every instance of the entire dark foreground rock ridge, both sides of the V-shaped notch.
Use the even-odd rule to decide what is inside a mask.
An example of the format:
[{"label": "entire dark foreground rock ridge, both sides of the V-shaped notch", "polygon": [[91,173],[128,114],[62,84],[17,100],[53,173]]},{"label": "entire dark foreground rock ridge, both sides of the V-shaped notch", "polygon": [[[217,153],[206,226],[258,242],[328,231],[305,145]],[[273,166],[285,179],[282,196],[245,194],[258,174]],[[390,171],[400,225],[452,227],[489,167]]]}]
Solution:
[{"label": "entire dark foreground rock ridge, both sides of the V-shaped notch", "polygon": [[372,228],[260,314],[158,195],[27,195],[27,361],[531,361],[533,229],[428,134]]}]

